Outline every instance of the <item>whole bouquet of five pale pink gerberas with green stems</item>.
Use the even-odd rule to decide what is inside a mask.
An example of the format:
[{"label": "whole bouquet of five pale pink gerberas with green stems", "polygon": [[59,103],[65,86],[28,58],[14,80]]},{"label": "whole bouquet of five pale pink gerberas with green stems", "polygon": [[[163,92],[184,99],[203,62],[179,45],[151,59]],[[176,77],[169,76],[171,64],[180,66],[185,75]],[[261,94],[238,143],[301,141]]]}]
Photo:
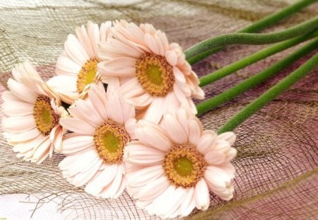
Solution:
[{"label": "whole bouquet of five pale pink gerberas with green stems", "polygon": [[[232,130],[309,73],[318,64],[318,54],[218,132],[204,130],[196,115],[315,50],[317,17],[276,33],[249,33],[310,3],[300,1],[242,33],[204,40],[186,52],[148,23],[88,22],[68,36],[57,60],[57,76],[43,81],[28,62],[12,70],[10,91],[2,95],[4,137],[25,161],[42,163],[53,152],[64,154],[59,168],[69,183],[102,198],[117,198],[126,189],[149,214],[174,218],[194,208],[206,210],[209,191],[230,200],[235,176],[230,161],[237,154]],[[192,98],[204,99],[201,86],[312,38],[316,39],[260,74],[194,105]],[[200,80],[190,65],[225,45],[273,42],[278,43]]]}]

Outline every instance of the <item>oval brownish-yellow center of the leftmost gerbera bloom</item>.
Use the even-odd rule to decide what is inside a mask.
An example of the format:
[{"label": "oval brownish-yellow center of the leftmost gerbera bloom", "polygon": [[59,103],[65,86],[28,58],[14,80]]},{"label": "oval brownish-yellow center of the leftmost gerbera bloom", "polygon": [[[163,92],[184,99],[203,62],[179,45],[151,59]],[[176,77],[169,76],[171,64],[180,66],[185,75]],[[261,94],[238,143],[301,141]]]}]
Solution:
[{"label": "oval brownish-yellow center of the leftmost gerbera bloom", "polygon": [[45,95],[37,96],[33,108],[33,116],[37,129],[47,135],[59,123],[59,115],[52,109],[49,97]]}]

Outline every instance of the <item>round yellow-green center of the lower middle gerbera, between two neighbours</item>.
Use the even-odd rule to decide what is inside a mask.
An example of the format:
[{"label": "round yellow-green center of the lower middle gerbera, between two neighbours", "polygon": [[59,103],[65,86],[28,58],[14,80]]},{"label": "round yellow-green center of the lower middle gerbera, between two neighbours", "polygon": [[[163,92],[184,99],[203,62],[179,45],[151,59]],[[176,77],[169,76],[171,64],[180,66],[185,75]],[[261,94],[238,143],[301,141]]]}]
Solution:
[{"label": "round yellow-green center of the lower middle gerbera, between two neighbours", "polygon": [[95,147],[105,163],[122,163],[124,146],[129,141],[124,126],[113,120],[107,120],[95,129]]}]

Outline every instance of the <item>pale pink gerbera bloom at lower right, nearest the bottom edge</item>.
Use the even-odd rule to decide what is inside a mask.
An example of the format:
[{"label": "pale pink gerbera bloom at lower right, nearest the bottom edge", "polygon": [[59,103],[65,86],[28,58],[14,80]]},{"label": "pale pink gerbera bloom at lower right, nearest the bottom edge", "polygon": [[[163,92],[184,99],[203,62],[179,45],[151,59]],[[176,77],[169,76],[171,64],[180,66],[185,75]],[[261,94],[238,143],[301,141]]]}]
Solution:
[{"label": "pale pink gerbera bloom at lower right, nearest the bottom edge", "polygon": [[124,149],[129,194],[137,206],[164,218],[187,216],[194,207],[210,205],[208,189],[221,199],[232,199],[236,156],[235,134],[203,130],[200,121],[180,108],[163,116],[162,123],[139,120],[137,141]]}]

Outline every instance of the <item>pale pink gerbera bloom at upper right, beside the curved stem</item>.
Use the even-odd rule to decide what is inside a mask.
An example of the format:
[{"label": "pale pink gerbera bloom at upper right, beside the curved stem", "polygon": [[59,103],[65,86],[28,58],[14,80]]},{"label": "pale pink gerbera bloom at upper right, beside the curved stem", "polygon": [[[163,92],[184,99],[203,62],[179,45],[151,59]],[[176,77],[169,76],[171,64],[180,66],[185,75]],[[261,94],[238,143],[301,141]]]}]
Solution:
[{"label": "pale pink gerbera bloom at upper right, beside the curved stem", "polygon": [[177,43],[153,25],[126,21],[114,22],[111,35],[99,47],[101,77],[119,79],[122,95],[140,117],[158,123],[180,105],[196,114],[192,97],[203,99],[204,92]]}]

